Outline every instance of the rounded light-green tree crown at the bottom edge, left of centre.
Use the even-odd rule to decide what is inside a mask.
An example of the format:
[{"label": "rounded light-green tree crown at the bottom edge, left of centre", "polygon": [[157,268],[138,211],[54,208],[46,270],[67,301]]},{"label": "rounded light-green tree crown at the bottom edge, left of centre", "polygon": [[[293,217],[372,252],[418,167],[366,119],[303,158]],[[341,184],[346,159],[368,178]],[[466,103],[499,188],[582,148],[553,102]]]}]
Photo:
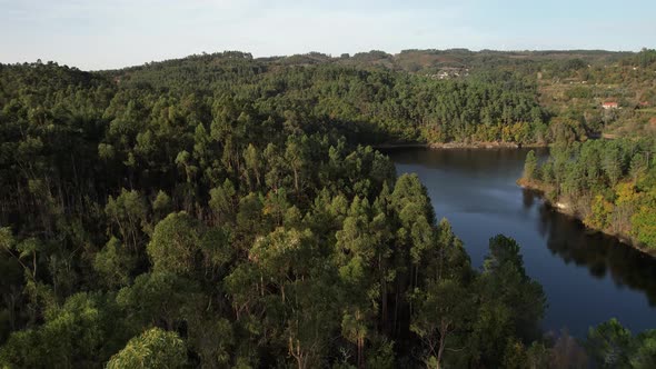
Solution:
[{"label": "rounded light-green tree crown at the bottom edge, left of centre", "polygon": [[183,368],[187,366],[185,341],[176,332],[152,328],[132,338],[112,356],[107,368]]}]

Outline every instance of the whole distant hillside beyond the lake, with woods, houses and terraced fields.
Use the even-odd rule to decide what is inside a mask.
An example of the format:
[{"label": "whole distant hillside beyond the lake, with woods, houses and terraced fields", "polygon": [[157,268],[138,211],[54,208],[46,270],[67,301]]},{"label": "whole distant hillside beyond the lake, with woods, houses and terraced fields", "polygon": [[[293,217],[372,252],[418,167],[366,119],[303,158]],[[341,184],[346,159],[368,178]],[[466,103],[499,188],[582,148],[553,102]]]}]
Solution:
[{"label": "whole distant hillside beyond the lake, with woods, houses and terraced fields", "polygon": [[[105,72],[153,89],[239,93],[330,120],[368,143],[544,144],[656,131],[656,52],[465,49],[191,56]],[[177,80],[173,80],[177,79]],[[239,92],[235,86],[240,86]],[[604,109],[604,103],[617,108]],[[309,104],[309,106],[308,106]]]}]

